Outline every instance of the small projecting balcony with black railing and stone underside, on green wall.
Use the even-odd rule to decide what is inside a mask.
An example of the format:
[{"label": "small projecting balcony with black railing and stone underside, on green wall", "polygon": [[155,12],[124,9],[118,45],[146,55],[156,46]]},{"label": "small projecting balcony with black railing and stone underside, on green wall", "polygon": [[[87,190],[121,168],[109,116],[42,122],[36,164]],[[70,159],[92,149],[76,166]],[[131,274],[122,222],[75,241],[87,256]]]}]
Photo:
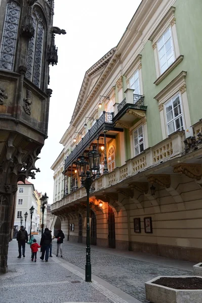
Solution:
[{"label": "small projecting balcony with black railing and stone underside, on green wall", "polygon": [[139,121],[146,116],[147,106],[144,105],[144,96],[133,92],[134,89],[127,88],[122,103],[114,105],[112,121],[116,127],[130,128],[135,120]]}]

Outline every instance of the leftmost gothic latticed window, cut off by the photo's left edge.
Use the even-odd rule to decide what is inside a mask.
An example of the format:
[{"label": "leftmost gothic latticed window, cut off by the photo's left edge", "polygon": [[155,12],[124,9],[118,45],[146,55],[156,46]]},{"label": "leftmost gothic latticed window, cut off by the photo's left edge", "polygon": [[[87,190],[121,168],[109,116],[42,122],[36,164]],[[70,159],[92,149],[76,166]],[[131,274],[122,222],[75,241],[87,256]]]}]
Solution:
[{"label": "leftmost gothic latticed window, cut off by the photo's left edge", "polygon": [[0,68],[10,71],[14,70],[19,18],[20,6],[14,1],[7,3],[0,54]]}]

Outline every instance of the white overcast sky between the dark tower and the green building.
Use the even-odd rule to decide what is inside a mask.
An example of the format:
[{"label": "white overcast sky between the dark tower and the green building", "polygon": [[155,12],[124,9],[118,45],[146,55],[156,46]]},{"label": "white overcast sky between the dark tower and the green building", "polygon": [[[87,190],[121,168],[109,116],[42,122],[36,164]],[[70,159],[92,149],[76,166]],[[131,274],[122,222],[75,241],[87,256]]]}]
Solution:
[{"label": "white overcast sky between the dark tower and the green building", "polygon": [[85,72],[112,47],[125,32],[141,0],[55,0],[54,26],[66,30],[56,35],[58,65],[50,68],[48,139],[36,162],[41,172],[31,180],[39,192],[53,202],[53,171],[50,169],[63,149],[59,143],[69,126]]}]

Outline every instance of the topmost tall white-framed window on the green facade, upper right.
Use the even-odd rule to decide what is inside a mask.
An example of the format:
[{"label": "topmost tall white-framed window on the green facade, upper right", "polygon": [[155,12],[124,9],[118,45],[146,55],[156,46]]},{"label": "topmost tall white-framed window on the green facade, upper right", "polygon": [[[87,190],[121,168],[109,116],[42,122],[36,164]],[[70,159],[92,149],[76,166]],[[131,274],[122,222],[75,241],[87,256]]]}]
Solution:
[{"label": "topmost tall white-framed window on the green facade, upper right", "polygon": [[160,37],[157,44],[160,72],[163,74],[175,60],[171,28],[167,29],[163,36]]}]

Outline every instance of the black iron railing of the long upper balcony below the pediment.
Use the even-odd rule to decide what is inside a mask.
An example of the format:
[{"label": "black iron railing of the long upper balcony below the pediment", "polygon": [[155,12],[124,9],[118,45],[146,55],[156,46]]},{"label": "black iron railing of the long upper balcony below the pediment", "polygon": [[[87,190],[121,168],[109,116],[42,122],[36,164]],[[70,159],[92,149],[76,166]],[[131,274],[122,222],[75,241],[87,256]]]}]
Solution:
[{"label": "black iron railing of the long upper balcony below the pediment", "polygon": [[104,124],[111,124],[112,126],[112,118],[113,113],[103,112],[102,116],[100,116],[96,123],[88,130],[86,135],[75,146],[71,154],[65,159],[65,168],[69,166],[76,157],[83,153],[90,141],[93,141],[96,138],[98,132],[103,128]]}]

